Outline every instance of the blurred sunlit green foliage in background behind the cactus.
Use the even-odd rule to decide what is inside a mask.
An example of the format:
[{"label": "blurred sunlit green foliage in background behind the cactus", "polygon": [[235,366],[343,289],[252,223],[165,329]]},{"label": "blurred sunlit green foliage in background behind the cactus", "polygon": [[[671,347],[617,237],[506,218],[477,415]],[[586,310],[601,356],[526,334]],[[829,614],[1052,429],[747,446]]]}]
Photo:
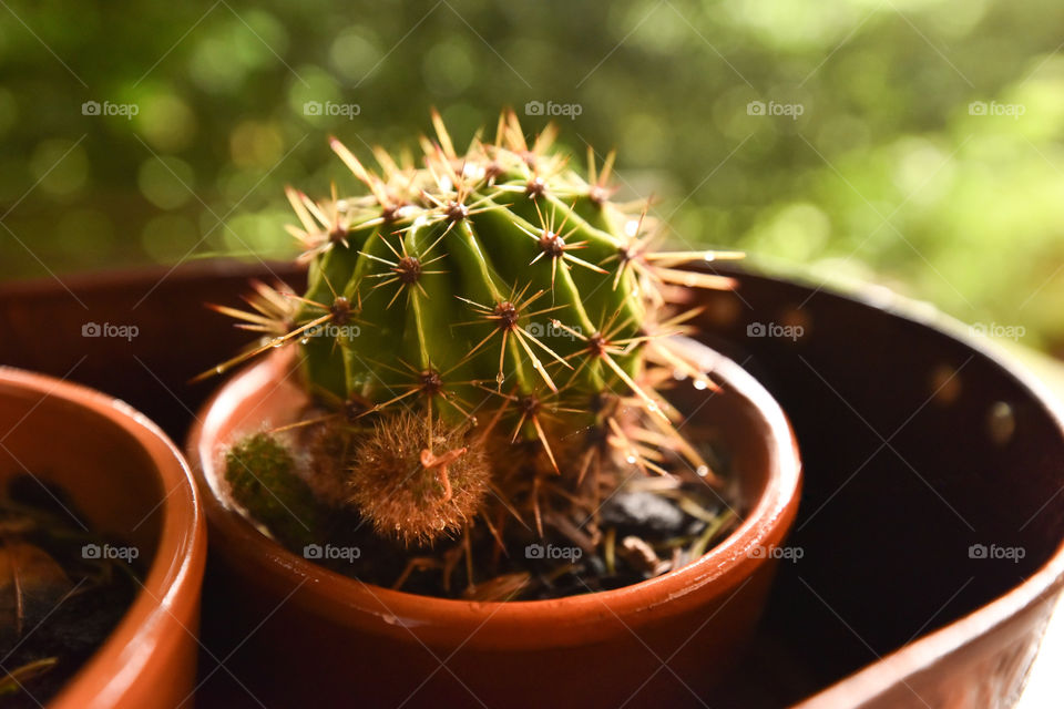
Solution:
[{"label": "blurred sunlit green foliage in background behind the cactus", "polygon": [[657,195],[678,242],[879,280],[1064,349],[1058,2],[8,0],[0,17],[0,277],[288,257],[283,185],[355,187],[330,133],[364,156],[413,146],[437,105],[464,142],[539,101],[579,105],[563,142],[581,163],[616,146],[621,196]]}]

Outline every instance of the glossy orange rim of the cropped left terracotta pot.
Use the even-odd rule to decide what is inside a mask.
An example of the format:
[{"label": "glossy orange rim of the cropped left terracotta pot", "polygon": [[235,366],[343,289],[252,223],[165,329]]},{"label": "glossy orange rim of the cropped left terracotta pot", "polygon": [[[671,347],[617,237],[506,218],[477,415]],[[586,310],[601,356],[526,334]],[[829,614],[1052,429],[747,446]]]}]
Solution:
[{"label": "glossy orange rim of the cropped left terracotta pot", "polygon": [[[132,605],[89,660],[49,702],[52,709],[112,707],[137,681],[156,651],[173,645],[175,630],[196,637],[171,610],[183,598],[200,595],[206,562],[206,526],[200,493],[187,463],[166,434],[140,411],[94,389],[45,374],[0,366],[4,389],[59,399],[117,425],[154,463],[164,497],[158,542]],[[153,511],[154,512],[154,511]],[[187,604],[187,600],[184,602]],[[196,600],[197,603],[197,600]]]}]

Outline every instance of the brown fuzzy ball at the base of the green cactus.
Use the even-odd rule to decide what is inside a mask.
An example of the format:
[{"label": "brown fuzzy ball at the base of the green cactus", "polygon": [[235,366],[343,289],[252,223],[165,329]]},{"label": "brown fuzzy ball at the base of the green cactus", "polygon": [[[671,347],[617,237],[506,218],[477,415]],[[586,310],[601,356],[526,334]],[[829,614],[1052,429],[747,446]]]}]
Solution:
[{"label": "brown fuzzy ball at the base of the green cactus", "polygon": [[432,425],[407,410],[380,419],[361,436],[350,471],[349,502],[377,533],[407,546],[454,536],[477,514],[491,471],[482,445],[466,428]]}]

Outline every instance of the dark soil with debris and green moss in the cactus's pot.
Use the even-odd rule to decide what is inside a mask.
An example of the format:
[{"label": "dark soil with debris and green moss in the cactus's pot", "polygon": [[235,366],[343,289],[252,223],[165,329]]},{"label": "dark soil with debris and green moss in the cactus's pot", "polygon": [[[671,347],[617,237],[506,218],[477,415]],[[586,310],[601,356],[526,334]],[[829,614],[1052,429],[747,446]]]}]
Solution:
[{"label": "dark soil with debris and green moss in the cactus's pot", "polygon": [[[354,505],[317,502],[309,487],[301,495],[289,494],[307,484],[300,482],[304,475],[313,476],[318,469],[357,465],[345,458],[348,445],[316,445],[316,440],[328,436],[315,436],[313,429],[289,440],[290,454],[286,444],[267,435],[247,436],[239,448],[241,464],[234,463],[236,446],[231,449],[226,473],[233,484],[246,482],[244,471],[258,470],[255,485],[239,490],[244,514],[268,527],[293,553],[336,573],[426,596],[536,600],[620,588],[679,568],[737,526],[744,501],[730,474],[727,441],[712,427],[696,430],[690,424],[688,432],[707,463],[705,470],[692,470],[673,454],[662,460],[668,475],[635,466],[631,474],[602,471],[603,480],[623,483],[613,490],[603,486],[595,515],[589,500],[544,508],[540,530],[497,507],[489,513],[492,524],[478,518],[463,535],[421,548],[381,535]],[[249,493],[254,496],[247,499]],[[342,497],[342,491],[334,494]],[[282,499],[287,504],[278,504]]]}]

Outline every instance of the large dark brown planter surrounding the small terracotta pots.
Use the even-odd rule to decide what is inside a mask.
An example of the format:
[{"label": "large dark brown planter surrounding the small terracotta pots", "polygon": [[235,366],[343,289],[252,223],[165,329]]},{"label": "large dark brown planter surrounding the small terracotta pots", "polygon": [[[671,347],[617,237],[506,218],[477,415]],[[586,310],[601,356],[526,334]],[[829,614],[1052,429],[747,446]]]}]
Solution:
[{"label": "large dark brown planter surrounding the small terracotta pots", "polygon": [[[1010,353],[882,288],[842,294],[796,275],[728,275],[738,290],[706,294],[698,325],[794,425],[804,480],[788,545],[805,556],[779,565],[750,653],[707,703],[1010,706],[1064,588],[1061,407]],[[249,278],[274,276],[297,290],[305,278],[290,264],[197,261],[2,284],[0,362],[105,390],[184,438],[214,387],[188,378],[246,342],[203,304],[239,307]],[[85,340],[90,315],[134,323],[141,337]],[[766,322],[800,322],[805,335],[748,336]],[[954,395],[929,401],[949,370],[959,372]],[[998,402],[1014,412],[1005,444],[988,428]],[[971,545],[995,540],[1026,557],[969,558]],[[272,608],[235,616],[222,571],[207,575],[197,706],[274,707],[245,690],[264,672],[290,679],[262,665]]]}]

